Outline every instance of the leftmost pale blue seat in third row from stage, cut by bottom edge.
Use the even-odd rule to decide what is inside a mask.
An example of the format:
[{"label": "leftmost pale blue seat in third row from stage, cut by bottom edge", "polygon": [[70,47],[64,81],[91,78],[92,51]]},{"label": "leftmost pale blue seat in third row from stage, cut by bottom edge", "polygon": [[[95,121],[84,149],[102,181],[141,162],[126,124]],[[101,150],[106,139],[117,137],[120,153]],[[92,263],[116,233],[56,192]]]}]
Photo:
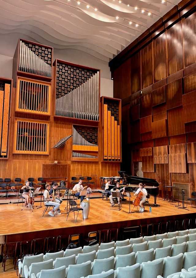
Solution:
[{"label": "leftmost pale blue seat in third row from stage, cut by bottom edge", "polygon": [[41,272],[37,273],[36,276],[34,273],[32,273],[31,278],[65,278],[65,273],[65,266],[61,266],[55,269],[42,269]]}]

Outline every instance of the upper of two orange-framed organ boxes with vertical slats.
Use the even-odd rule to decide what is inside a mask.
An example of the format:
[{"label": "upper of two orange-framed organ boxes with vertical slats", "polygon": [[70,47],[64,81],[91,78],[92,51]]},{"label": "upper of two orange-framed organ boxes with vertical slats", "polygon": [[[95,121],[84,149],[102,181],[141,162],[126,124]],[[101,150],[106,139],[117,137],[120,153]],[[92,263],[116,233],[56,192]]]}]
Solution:
[{"label": "upper of two orange-framed organ boxes with vertical slats", "polygon": [[51,83],[17,78],[16,111],[50,115]]}]

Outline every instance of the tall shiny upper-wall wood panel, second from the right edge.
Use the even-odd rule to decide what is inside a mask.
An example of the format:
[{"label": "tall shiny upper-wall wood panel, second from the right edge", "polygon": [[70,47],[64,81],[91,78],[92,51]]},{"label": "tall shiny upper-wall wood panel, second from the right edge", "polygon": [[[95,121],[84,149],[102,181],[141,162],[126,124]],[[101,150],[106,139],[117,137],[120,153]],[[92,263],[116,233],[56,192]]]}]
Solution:
[{"label": "tall shiny upper-wall wood panel, second from the right edge", "polygon": [[168,75],[183,69],[183,43],[181,21],[167,31]]}]

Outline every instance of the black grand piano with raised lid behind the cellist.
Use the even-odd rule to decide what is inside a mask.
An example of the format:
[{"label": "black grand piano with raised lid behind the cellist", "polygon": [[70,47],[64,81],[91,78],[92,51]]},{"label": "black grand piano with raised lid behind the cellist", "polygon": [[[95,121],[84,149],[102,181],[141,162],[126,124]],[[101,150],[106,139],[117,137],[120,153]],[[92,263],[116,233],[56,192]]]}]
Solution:
[{"label": "black grand piano with raised lid behind the cellist", "polygon": [[[118,173],[120,175],[119,180],[123,179],[123,184],[121,184],[121,186],[126,186],[125,191],[136,191],[139,187],[139,183],[145,183],[145,189],[147,190],[148,194],[154,196],[154,206],[159,206],[156,204],[156,196],[159,194],[159,183],[156,180],[130,176],[126,174],[125,171],[119,171]],[[113,187],[114,185],[110,185],[109,190],[111,190]]]}]

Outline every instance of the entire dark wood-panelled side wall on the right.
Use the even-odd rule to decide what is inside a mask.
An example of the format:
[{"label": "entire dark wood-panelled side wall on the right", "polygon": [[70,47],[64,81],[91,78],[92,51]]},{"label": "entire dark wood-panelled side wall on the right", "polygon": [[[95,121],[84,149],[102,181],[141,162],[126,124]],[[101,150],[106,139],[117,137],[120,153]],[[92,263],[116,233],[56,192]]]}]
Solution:
[{"label": "entire dark wood-panelled side wall on the right", "polygon": [[[182,1],[111,62],[123,163],[196,191],[196,1]],[[160,186],[160,189],[163,189]],[[163,192],[160,191],[163,195]]]}]

